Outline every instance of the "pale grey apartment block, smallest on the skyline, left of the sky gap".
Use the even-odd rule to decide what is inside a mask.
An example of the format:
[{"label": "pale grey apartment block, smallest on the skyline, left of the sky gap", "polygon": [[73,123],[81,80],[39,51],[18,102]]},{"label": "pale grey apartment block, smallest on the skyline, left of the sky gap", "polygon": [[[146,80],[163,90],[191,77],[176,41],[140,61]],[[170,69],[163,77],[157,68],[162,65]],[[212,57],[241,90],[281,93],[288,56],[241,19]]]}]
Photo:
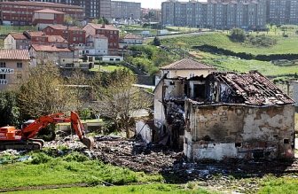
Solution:
[{"label": "pale grey apartment block, smallest on the skyline, left of the sky gap", "polygon": [[141,19],[141,3],[111,1],[113,19]]}]

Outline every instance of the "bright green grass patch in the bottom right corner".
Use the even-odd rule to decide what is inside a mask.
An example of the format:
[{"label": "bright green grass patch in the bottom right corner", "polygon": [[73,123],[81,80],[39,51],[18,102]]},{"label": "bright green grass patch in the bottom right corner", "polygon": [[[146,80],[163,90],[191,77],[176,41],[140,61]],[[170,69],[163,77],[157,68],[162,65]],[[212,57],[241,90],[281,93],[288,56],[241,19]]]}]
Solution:
[{"label": "bright green grass patch in the bottom right corner", "polygon": [[267,177],[263,179],[261,186],[258,194],[298,193],[298,179],[295,178]]}]

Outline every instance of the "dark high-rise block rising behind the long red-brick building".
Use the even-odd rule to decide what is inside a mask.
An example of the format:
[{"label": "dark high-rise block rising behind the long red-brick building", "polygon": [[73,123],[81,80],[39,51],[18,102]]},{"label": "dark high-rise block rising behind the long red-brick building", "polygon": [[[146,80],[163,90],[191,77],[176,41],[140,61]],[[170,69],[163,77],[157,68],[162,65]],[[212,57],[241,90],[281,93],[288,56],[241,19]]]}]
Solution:
[{"label": "dark high-rise block rising behind the long red-brick building", "polygon": [[[15,2],[18,0],[5,0],[5,1]],[[48,2],[48,3],[59,3],[59,4],[80,6],[85,8],[83,12],[83,19],[87,20],[87,22],[91,21],[92,19],[101,18],[103,16],[106,19],[111,19],[111,0],[24,0],[24,1]]]}]

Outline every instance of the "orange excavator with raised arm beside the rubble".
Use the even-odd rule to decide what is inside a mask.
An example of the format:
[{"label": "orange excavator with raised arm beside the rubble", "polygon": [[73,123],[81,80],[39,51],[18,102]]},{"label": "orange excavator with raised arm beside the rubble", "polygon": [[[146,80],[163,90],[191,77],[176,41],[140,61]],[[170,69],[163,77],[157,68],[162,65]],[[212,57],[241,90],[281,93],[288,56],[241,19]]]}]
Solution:
[{"label": "orange excavator with raised arm beside the rubble", "polygon": [[85,136],[79,115],[75,112],[71,112],[70,117],[61,117],[62,115],[65,115],[65,113],[41,116],[21,129],[14,126],[0,128],[0,150],[40,150],[43,148],[44,141],[43,139],[36,139],[36,134],[48,124],[55,125],[66,122],[71,123],[82,144],[91,150],[94,139]]}]

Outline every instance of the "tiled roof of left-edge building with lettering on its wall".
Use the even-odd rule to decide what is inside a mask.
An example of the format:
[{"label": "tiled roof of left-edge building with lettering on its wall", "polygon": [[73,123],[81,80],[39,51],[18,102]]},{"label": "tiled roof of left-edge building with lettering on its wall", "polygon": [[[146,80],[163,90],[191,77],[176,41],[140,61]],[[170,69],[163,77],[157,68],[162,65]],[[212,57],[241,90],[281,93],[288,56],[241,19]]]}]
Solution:
[{"label": "tiled roof of left-edge building with lettering on its wall", "polygon": [[28,50],[4,50],[0,49],[0,59],[30,60]]}]

